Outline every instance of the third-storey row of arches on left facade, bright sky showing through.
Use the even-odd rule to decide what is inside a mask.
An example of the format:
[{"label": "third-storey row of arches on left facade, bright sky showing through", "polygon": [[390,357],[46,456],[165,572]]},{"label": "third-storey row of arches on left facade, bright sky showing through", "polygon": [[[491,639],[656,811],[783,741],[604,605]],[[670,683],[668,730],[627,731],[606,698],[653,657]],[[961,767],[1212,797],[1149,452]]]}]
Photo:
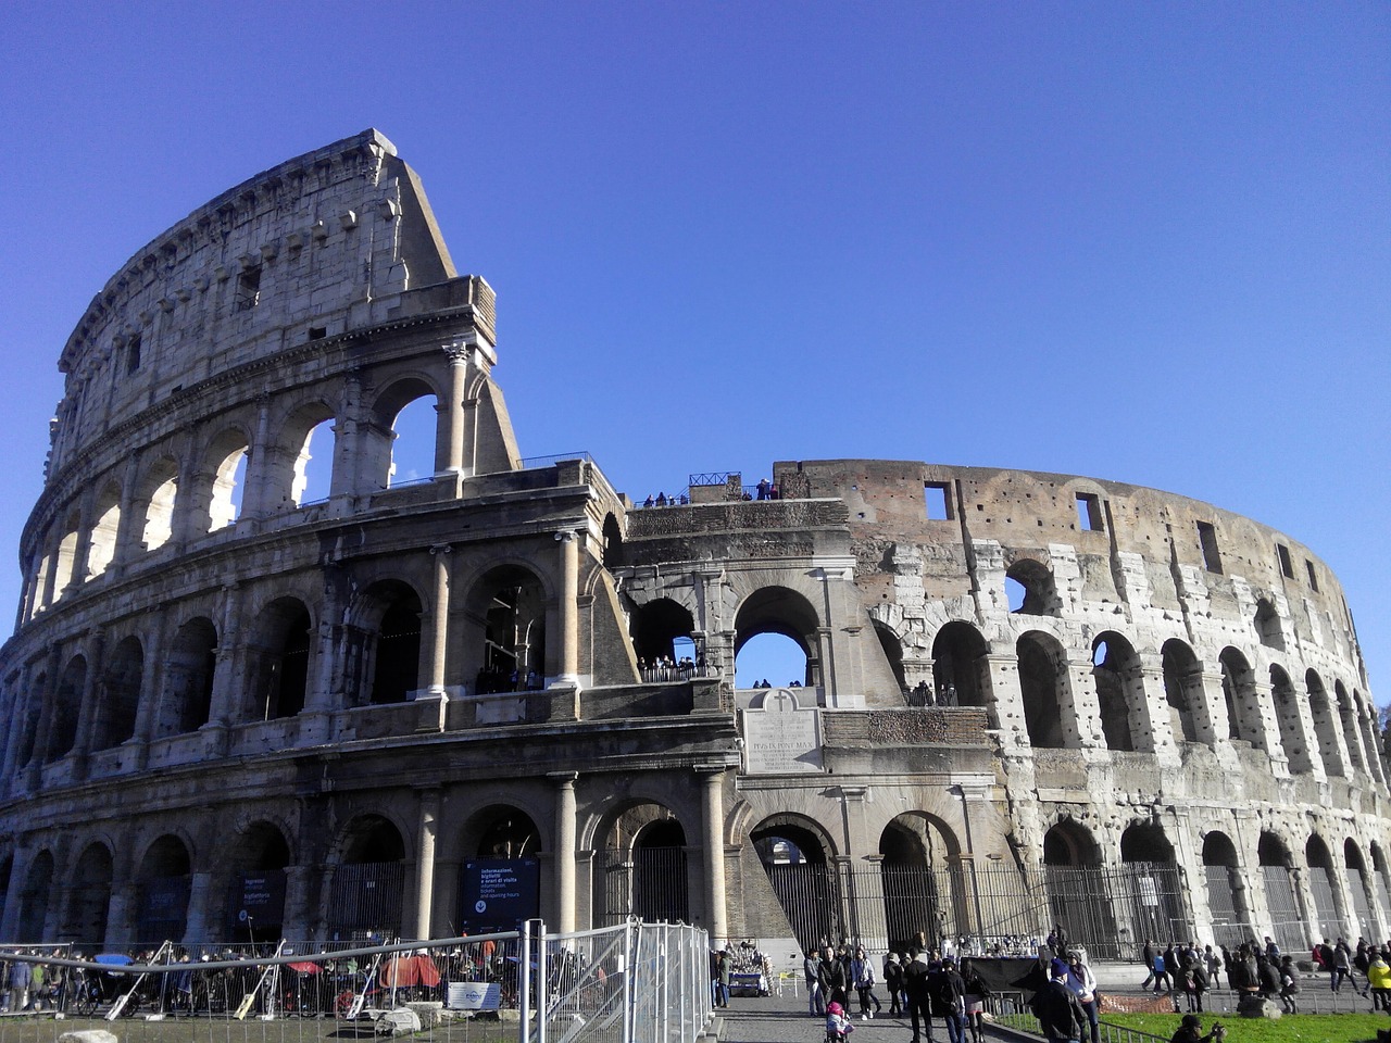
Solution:
[{"label": "third-storey row of arches on left facade, bright sky showing through", "polygon": [[[26,569],[24,619],[171,541],[337,492],[362,495],[433,477],[441,452],[438,401],[431,378],[410,375],[384,387],[356,420],[327,399],[300,402],[278,417],[248,406],[192,449],[172,439],[153,446],[57,512]],[[339,452],[344,438],[349,452]]]}]

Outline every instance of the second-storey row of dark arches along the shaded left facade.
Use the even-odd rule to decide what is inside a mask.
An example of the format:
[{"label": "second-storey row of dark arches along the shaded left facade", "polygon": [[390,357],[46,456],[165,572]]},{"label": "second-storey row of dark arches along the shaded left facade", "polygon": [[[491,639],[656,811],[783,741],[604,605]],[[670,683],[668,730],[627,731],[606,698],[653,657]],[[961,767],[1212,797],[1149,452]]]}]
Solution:
[{"label": "second-storey row of dark arches along the shaded left facade", "polygon": [[[520,565],[488,569],[466,587],[451,655],[467,687],[476,694],[540,687],[554,673],[552,601],[542,576]],[[320,601],[281,594],[248,608],[230,631],[216,622],[227,620],[225,612],[171,619],[171,633],[160,616],[146,616],[134,633],[89,638],[67,658],[36,661],[11,681],[18,726],[8,763],[51,763],[214,722],[287,719],[312,704],[321,711],[399,704],[423,690],[430,606],[416,583],[377,580],[339,620],[325,612]]]}]

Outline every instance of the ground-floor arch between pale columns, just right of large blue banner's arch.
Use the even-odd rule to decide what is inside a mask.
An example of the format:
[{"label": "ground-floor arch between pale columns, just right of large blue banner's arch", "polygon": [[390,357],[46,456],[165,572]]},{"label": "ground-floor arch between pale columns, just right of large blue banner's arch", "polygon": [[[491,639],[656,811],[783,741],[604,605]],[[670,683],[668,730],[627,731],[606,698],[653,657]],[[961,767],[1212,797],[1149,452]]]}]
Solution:
[{"label": "ground-floor arch between pale columns, just right of large blue banner's arch", "polygon": [[686,830],[661,804],[625,809],[605,830],[604,923],[690,921]]}]

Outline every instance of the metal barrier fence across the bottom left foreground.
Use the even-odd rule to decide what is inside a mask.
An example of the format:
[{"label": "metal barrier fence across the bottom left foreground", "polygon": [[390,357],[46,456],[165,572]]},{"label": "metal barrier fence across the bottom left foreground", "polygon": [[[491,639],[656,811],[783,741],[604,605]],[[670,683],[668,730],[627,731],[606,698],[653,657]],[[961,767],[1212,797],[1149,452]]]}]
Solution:
[{"label": "metal barrier fence across the bottom left foreground", "polygon": [[115,1022],[127,1043],[330,1043],[392,1022],[437,1043],[693,1043],[708,961],[705,932],[638,921],[385,946],[0,946],[0,1043]]}]

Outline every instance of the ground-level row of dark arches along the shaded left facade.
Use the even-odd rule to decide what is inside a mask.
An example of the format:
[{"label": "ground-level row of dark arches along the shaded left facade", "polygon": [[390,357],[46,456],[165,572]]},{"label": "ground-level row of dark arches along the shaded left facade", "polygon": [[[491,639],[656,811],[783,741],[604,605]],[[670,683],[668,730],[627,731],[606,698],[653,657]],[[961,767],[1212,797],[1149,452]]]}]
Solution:
[{"label": "ground-level row of dark arches along the shaded left facade", "polygon": [[[182,832],[163,833],[129,864],[106,839],[60,851],[43,847],[15,873],[0,859],[0,909],[10,933],[28,941],[153,946],[186,941],[274,941],[410,936],[415,921],[409,829],[391,814],[352,818],[321,862],[305,855],[275,820],[255,819],[207,851]],[[594,851],[595,923],[690,921],[687,832],[666,805],[627,802],[598,826]],[[527,915],[541,912],[537,868],[551,841],[522,808],[494,804],[469,816],[451,846],[456,880],[445,919],[479,933],[513,923],[479,919],[469,893],[470,864],[530,866],[522,875]],[[437,866],[438,868],[438,866]],[[437,873],[431,875],[433,878]],[[0,914],[3,915],[3,914]]]}]

